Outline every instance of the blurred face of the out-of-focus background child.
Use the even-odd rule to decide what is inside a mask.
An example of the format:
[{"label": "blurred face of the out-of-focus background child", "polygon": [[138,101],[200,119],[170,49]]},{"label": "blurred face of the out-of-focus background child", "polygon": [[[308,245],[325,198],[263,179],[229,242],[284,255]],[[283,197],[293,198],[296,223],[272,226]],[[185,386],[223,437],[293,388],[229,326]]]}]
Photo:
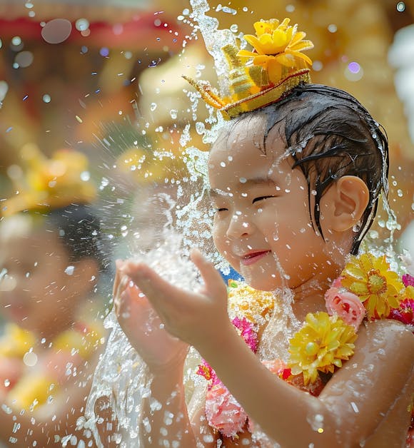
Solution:
[{"label": "blurred face of the out-of-focus background child", "polygon": [[[44,229],[10,235],[2,240],[0,312],[28,330],[41,332],[69,314],[73,276],[55,233]],[[68,271],[69,272],[69,271]]]}]

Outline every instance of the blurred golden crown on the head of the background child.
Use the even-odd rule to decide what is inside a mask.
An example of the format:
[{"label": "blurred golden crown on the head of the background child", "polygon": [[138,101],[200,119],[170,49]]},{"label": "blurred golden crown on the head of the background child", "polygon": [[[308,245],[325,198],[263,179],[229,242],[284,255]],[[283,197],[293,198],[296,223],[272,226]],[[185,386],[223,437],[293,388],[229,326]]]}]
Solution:
[{"label": "blurred golden crown on the head of the background child", "polygon": [[19,166],[9,169],[17,193],[1,202],[1,215],[10,216],[23,210],[47,212],[71,203],[91,203],[96,198],[88,159],[83,153],[61,149],[46,158],[29,144],[22,148],[21,158],[26,170]]}]

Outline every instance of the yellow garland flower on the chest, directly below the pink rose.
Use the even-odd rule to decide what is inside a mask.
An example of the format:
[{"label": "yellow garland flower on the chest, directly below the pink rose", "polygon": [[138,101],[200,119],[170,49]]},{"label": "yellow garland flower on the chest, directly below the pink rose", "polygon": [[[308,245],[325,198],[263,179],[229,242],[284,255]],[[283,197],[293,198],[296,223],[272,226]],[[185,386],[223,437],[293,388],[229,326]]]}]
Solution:
[{"label": "yellow garland flower on the chest, directly below the pink rose", "polygon": [[331,372],[349,360],[357,335],[338,316],[327,312],[308,313],[301,330],[291,338],[288,367],[293,375],[303,373],[305,385],[318,379],[318,371]]}]

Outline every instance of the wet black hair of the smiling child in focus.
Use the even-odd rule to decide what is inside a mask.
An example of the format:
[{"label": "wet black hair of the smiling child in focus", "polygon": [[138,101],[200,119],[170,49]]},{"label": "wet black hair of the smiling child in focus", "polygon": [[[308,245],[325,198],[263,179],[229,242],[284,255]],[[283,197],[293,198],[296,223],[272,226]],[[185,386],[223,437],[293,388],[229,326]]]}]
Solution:
[{"label": "wet black hair of the smiling child in focus", "polygon": [[[266,114],[263,151],[272,128],[283,124],[281,133],[292,168],[300,168],[308,183],[309,214],[313,227],[320,226],[320,198],[343,175],[362,179],[369,201],[354,228],[350,253],[356,255],[361,240],[375,218],[380,193],[388,195],[388,139],[383,128],[350,93],[319,84],[303,84],[286,97],[253,113]],[[244,115],[244,114],[243,114]],[[234,124],[243,115],[233,119]],[[270,148],[271,151],[271,148]],[[310,195],[314,195],[313,213]]]}]

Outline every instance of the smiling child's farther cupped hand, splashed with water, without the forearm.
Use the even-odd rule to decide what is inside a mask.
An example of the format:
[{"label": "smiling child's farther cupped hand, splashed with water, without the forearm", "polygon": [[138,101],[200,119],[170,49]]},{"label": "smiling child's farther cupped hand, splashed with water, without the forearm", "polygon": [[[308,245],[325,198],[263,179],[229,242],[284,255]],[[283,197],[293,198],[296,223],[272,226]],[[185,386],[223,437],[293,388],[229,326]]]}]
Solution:
[{"label": "smiling child's farther cupped hand, splashed with water, without the forearm", "polygon": [[173,366],[182,366],[188,345],[166,332],[146,296],[123,273],[129,263],[118,261],[116,265],[113,295],[119,325],[151,372],[168,372]]}]

